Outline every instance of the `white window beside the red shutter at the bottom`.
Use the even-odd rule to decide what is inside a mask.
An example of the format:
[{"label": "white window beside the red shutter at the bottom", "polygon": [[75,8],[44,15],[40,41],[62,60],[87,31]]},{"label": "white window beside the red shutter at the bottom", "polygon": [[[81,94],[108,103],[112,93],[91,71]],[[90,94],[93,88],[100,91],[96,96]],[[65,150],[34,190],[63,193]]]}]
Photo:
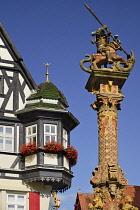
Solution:
[{"label": "white window beside the red shutter at the bottom", "polygon": [[[15,196],[15,200],[12,202],[12,201],[8,201],[8,196],[9,195],[12,195],[12,196]],[[24,202],[23,203],[20,203],[18,202],[18,196],[24,196]],[[26,210],[26,194],[25,193],[10,193],[10,192],[7,192],[6,193],[6,210],[8,210],[8,206],[9,205],[12,205],[14,206],[14,209],[15,210],[18,210],[18,206],[23,206],[24,209],[23,210]]]}]

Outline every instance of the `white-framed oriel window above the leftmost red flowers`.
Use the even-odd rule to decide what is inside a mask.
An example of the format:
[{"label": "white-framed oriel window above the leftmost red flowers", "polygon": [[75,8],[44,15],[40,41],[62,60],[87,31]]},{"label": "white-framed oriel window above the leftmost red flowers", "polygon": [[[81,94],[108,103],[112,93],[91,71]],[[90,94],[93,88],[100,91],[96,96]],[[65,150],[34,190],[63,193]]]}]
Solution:
[{"label": "white-framed oriel window above the leftmost red flowers", "polygon": [[[33,133],[33,127],[36,128],[36,132]],[[28,129],[31,128],[31,134],[28,134]],[[36,137],[36,141],[33,140],[33,137]],[[31,139],[31,140],[29,140]],[[37,124],[26,126],[26,143],[35,142],[37,144]]]}]

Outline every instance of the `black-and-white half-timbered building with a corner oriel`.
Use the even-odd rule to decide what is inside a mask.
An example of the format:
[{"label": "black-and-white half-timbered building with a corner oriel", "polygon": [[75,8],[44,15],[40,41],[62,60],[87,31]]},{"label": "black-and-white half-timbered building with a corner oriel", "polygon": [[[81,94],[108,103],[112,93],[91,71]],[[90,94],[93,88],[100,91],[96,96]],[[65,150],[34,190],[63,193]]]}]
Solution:
[{"label": "black-and-white half-timbered building with a corner oriel", "polygon": [[[51,191],[71,186],[66,152],[45,152],[46,142],[67,148],[78,120],[61,91],[48,80],[37,86],[0,24],[0,209],[50,209]],[[21,154],[34,142],[37,152]],[[26,147],[25,147],[26,149]]]}]

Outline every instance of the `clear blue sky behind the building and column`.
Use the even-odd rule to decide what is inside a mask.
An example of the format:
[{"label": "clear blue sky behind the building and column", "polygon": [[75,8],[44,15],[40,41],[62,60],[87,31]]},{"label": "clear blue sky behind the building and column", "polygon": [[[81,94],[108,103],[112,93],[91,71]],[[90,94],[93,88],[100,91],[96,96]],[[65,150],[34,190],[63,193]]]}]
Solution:
[{"label": "clear blue sky behind the building and column", "polygon": [[[71,145],[79,152],[73,167],[72,187],[61,198],[60,210],[72,210],[76,193],[92,192],[89,180],[98,165],[97,113],[95,100],[85,90],[89,74],[79,61],[96,52],[90,33],[100,27],[84,7],[87,3],[113,35],[119,34],[122,47],[133,50],[136,64],[122,88],[125,99],[119,111],[119,165],[130,185],[140,185],[140,1],[128,0],[7,0],[1,2],[0,21],[24,59],[35,82],[45,81],[44,63],[51,63],[50,80],[66,96],[69,111],[80,121],[71,132]],[[118,52],[119,55],[125,54]]]}]

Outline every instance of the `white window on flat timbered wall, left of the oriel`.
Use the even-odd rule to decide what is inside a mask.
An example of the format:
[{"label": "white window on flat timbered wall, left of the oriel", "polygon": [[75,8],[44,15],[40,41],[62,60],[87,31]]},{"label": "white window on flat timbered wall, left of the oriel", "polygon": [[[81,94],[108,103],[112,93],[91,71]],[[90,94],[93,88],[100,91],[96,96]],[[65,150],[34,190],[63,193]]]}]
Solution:
[{"label": "white window on flat timbered wall, left of the oriel", "polygon": [[[1,151],[14,152],[14,126],[0,125],[0,127],[3,128],[3,134],[0,133],[0,138],[3,138],[3,149]],[[11,135],[6,134],[6,128],[12,128],[12,134]],[[12,149],[11,150],[6,150],[6,138],[12,140]]]}]

